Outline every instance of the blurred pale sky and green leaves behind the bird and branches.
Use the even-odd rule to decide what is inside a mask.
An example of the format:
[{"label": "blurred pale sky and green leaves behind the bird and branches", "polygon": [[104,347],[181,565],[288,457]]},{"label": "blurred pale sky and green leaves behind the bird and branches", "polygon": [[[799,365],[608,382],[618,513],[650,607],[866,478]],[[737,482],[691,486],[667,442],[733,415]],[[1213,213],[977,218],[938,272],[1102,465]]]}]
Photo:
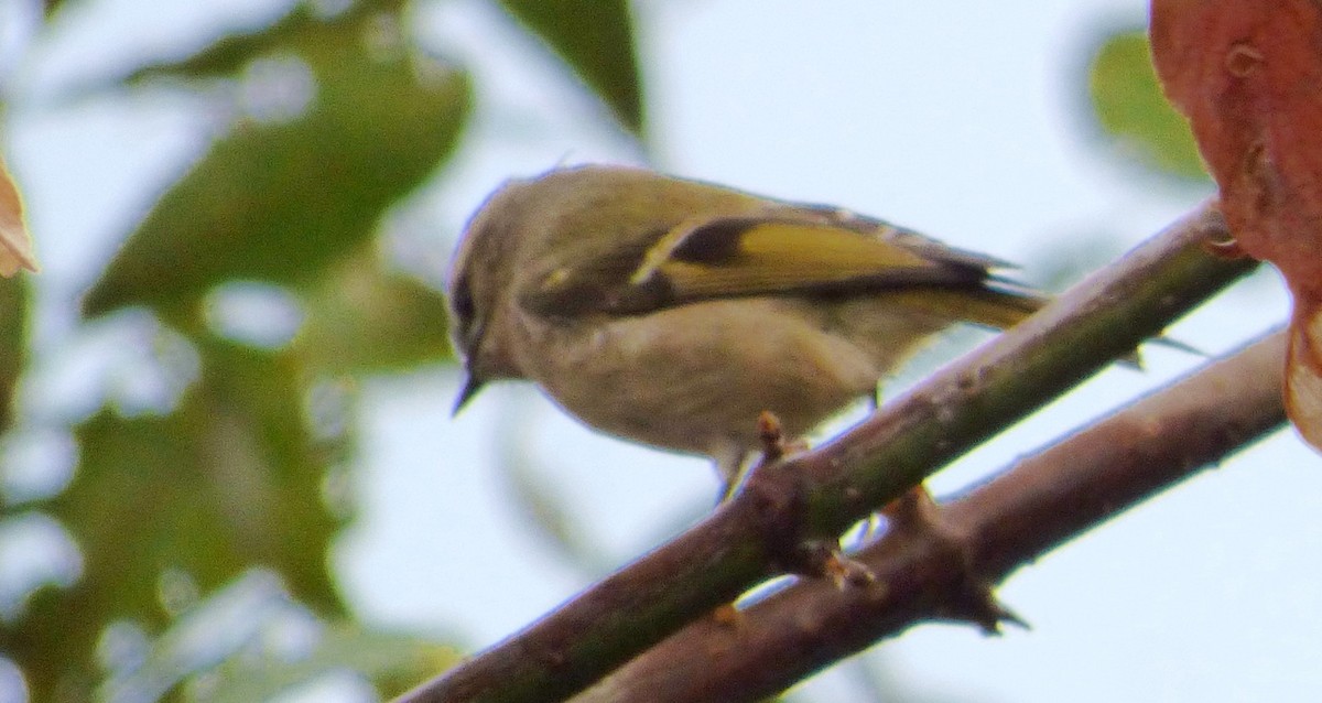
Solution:
[{"label": "blurred pale sky and green leaves behind the bird and branches", "polygon": [[[484,196],[646,164],[838,204],[1062,288],[1212,193],[1141,0],[0,0],[0,702],[378,700],[710,509],[699,460],[531,387],[449,416],[442,291]],[[1261,271],[1171,329],[1284,320]],[[956,332],[888,392],[985,338]],[[1203,359],[1146,352],[949,494]],[[1227,398],[1227,403],[1235,402]],[[838,431],[857,415],[824,433]],[[796,702],[1310,700],[1318,457],[1290,431]]]}]

